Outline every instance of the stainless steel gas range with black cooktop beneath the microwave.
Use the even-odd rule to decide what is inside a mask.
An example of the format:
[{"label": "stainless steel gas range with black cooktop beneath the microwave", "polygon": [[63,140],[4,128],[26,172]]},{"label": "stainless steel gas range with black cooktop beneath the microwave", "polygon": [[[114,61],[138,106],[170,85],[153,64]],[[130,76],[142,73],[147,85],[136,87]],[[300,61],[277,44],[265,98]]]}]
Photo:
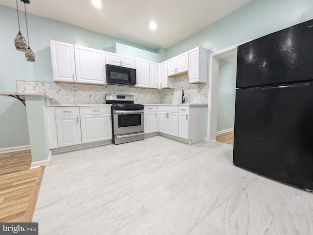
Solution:
[{"label": "stainless steel gas range with black cooktop beneath the microwave", "polygon": [[107,94],[106,103],[112,104],[113,144],[145,138],[143,105],[134,104],[134,96]]}]

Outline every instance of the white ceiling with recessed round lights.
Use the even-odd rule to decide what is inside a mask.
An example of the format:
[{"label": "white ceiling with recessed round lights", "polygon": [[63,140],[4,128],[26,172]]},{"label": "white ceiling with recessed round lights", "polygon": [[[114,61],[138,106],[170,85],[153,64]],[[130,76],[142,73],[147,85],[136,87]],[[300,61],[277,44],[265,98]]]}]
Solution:
[{"label": "white ceiling with recessed round lights", "polygon": [[[168,48],[251,0],[30,0],[27,13],[76,25],[153,49]],[[1,5],[16,9],[15,0]],[[18,0],[19,9],[23,2]],[[150,20],[157,24],[149,29]]]}]

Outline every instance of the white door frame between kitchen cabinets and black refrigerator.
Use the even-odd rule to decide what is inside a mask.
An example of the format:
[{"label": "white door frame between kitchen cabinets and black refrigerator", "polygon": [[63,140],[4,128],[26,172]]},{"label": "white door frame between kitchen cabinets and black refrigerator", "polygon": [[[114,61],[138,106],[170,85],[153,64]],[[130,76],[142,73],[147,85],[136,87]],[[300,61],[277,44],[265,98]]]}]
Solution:
[{"label": "white door frame between kitchen cabinets and black refrigerator", "polygon": [[216,141],[217,128],[217,104],[219,87],[220,59],[237,53],[237,47],[252,39],[224,48],[223,50],[210,54],[209,62],[209,90],[208,90],[208,109],[207,109],[207,136],[208,141]]}]

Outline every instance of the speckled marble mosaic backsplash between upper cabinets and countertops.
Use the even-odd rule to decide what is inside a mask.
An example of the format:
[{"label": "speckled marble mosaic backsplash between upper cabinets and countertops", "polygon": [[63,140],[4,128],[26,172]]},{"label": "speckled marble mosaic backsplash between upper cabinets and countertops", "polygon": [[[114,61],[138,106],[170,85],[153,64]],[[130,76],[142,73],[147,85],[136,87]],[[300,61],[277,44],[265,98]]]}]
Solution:
[{"label": "speckled marble mosaic backsplash between upper cabinets and countertops", "polygon": [[[180,103],[184,90],[187,103],[207,103],[207,84],[189,84],[188,76],[176,78],[174,89],[140,89],[117,85],[83,85],[56,82],[17,81],[18,92],[46,93],[50,104],[103,104],[106,94],[134,95],[135,103]],[[84,94],[86,93],[86,95]]]}]

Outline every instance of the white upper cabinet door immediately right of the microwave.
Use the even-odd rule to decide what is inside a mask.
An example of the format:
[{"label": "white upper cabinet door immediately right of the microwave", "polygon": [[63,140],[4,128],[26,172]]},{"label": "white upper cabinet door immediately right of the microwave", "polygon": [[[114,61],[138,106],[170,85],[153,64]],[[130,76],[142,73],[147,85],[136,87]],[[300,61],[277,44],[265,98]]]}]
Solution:
[{"label": "white upper cabinet door immediately right of the microwave", "polygon": [[135,59],[136,63],[136,87],[149,87],[150,72],[149,61],[144,59]]}]

